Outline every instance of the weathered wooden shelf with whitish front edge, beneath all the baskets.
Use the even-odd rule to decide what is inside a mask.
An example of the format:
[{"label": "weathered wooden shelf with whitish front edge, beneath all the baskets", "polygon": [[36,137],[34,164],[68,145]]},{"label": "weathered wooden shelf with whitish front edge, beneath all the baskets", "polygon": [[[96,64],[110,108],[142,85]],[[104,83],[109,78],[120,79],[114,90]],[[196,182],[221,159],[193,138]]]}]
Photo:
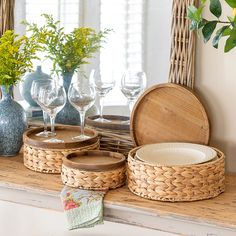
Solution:
[{"label": "weathered wooden shelf with whitish front edge, beneath all the baskets", "polygon": [[[62,211],[60,175],[28,170],[22,155],[0,157],[0,200]],[[236,235],[236,175],[227,175],[226,192],[204,201],[146,200],[127,187],[105,197],[106,220],[184,235]]]}]

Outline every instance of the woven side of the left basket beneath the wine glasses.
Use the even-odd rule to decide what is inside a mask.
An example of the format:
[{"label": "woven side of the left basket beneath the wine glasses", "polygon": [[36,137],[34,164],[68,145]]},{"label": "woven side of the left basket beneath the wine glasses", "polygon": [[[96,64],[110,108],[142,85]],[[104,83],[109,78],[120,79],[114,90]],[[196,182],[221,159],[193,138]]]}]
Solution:
[{"label": "woven side of the left basket beneath the wine glasses", "polygon": [[61,173],[62,158],[76,151],[99,149],[99,140],[91,145],[75,149],[43,149],[24,144],[24,165],[43,173]]}]

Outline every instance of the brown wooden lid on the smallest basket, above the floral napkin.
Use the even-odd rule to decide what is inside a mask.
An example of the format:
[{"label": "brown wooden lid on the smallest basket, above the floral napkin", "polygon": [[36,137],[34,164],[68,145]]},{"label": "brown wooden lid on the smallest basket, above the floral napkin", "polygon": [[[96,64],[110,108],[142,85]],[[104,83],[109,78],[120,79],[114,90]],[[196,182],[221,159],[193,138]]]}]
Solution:
[{"label": "brown wooden lid on the smallest basket, above the floral napkin", "polygon": [[79,151],[63,158],[63,165],[88,171],[106,171],[124,164],[124,155],[109,151]]}]

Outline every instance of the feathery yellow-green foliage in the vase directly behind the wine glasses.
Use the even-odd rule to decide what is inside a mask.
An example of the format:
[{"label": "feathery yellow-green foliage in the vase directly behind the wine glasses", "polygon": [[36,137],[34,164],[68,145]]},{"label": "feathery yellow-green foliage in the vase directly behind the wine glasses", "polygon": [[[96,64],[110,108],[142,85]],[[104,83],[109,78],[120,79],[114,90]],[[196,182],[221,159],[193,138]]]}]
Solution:
[{"label": "feathery yellow-green foliage in the vase directly behind the wine glasses", "polygon": [[73,73],[97,52],[105,36],[110,30],[96,33],[91,28],[75,28],[66,34],[60,27],[60,21],[55,21],[51,15],[43,14],[45,24],[38,27],[35,23],[24,22],[33,37],[41,43],[46,57],[53,62],[52,72]]}]

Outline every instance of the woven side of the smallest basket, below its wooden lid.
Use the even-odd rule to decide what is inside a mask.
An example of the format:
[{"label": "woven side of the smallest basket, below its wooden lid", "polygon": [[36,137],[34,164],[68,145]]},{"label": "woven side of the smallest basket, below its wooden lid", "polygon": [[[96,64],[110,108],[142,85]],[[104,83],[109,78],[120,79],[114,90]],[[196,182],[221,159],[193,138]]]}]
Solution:
[{"label": "woven side of the smallest basket, below its wooden lid", "polygon": [[70,187],[108,190],[121,187],[126,181],[126,166],[107,171],[85,171],[62,165],[62,182]]}]

